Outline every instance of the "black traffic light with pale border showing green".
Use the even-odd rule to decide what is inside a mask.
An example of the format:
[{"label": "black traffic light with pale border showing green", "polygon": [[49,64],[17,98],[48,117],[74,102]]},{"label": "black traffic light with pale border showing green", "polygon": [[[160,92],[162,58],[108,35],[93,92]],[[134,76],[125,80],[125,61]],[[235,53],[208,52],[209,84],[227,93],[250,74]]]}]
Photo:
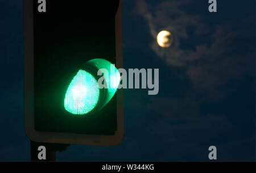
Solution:
[{"label": "black traffic light with pale border showing green", "polygon": [[122,3],[23,0],[24,118],[35,142],[123,139]]}]

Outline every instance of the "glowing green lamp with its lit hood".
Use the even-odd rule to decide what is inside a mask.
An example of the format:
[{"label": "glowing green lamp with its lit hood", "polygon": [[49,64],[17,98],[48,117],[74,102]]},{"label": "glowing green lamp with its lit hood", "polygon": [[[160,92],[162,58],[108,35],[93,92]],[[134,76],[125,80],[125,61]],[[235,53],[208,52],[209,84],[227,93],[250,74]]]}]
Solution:
[{"label": "glowing green lamp with its lit hood", "polygon": [[86,62],[70,83],[65,110],[73,115],[100,111],[113,98],[121,75],[109,61],[97,58]]}]

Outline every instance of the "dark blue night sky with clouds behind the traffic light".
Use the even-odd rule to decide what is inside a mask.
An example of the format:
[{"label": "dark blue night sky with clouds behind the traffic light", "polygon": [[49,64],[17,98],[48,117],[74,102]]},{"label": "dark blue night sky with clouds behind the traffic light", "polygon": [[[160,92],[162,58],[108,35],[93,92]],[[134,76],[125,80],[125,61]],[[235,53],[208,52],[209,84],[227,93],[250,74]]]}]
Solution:
[{"label": "dark blue night sky with clouds behind the traffic light", "polygon": [[[255,1],[123,1],[125,69],[159,69],[159,94],[125,90],[125,138],[71,145],[57,161],[255,161]],[[170,48],[158,32],[174,36]],[[24,133],[23,6],[0,0],[0,161],[30,161]]]}]

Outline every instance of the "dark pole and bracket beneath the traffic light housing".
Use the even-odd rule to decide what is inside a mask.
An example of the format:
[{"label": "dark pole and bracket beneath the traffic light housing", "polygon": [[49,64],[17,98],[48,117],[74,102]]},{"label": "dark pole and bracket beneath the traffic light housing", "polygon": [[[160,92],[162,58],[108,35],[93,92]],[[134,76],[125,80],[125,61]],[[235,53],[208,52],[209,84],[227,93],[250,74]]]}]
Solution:
[{"label": "dark pole and bracket beneath the traffic light housing", "polygon": [[[39,147],[46,147],[46,159],[39,159]],[[32,162],[54,162],[56,161],[56,151],[65,151],[69,144],[48,144],[30,141],[30,157]]]}]

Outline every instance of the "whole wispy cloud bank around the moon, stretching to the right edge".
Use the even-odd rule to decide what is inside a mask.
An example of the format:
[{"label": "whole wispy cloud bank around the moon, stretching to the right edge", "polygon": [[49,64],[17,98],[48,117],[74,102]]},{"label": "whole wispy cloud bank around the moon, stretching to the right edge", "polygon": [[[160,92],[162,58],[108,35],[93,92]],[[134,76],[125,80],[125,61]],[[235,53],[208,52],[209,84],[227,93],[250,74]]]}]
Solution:
[{"label": "whole wispy cloud bank around the moon, stretching to the right edge", "polygon": [[255,61],[255,51],[232,53],[239,52],[242,41],[247,41],[243,38],[250,39],[253,35],[236,31],[229,23],[210,24],[202,15],[188,14],[185,8],[195,6],[195,3],[173,0],[151,7],[144,0],[137,2],[135,14],[147,21],[152,37],[163,29],[174,36],[170,48],[161,48],[155,40],[152,41],[151,49],[155,54],[169,66],[185,67],[197,90],[218,92],[216,88],[233,79],[241,79],[248,73],[255,75],[251,65]]}]

